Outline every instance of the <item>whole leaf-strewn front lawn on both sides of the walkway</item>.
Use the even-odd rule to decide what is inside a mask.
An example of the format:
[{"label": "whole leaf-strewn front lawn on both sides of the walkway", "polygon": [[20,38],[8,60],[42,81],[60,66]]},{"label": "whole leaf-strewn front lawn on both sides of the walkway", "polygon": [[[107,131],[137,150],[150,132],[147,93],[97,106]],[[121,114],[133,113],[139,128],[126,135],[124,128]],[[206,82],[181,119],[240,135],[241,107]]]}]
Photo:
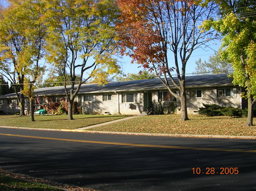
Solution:
[{"label": "whole leaf-strewn front lawn on both sides of the walkway", "polygon": [[[74,115],[74,120],[68,120],[67,115],[35,116],[35,122],[30,116],[0,116],[0,126],[77,129],[89,125],[104,123],[125,118],[125,115]],[[112,131],[133,133],[166,133],[166,134],[211,134],[226,136],[256,136],[256,126],[246,127],[246,118],[231,118],[228,116],[190,115],[190,120],[180,121],[180,115],[149,115],[120,121],[89,129],[90,131]],[[254,118],[254,124],[256,123]]]}]

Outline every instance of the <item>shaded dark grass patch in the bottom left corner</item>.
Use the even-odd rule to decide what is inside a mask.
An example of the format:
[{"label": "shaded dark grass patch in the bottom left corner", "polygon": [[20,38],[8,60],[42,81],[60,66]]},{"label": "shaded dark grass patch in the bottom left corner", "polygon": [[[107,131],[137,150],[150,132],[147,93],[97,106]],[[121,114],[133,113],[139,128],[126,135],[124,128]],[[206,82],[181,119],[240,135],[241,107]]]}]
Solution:
[{"label": "shaded dark grass patch in the bottom left corner", "polygon": [[32,183],[13,177],[0,175],[0,190],[63,190],[41,183]]}]

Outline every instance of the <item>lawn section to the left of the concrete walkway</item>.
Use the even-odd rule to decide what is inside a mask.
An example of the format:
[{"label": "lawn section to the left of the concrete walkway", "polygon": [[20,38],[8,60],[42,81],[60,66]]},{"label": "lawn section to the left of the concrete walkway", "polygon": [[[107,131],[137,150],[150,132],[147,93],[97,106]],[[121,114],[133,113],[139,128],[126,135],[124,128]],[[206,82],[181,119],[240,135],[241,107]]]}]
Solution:
[{"label": "lawn section to the left of the concrete walkway", "polygon": [[30,121],[30,116],[0,116],[0,126],[31,127],[49,129],[77,129],[89,125],[104,123],[125,118],[125,115],[73,115],[74,120],[68,120],[67,115],[36,115],[35,122]]}]

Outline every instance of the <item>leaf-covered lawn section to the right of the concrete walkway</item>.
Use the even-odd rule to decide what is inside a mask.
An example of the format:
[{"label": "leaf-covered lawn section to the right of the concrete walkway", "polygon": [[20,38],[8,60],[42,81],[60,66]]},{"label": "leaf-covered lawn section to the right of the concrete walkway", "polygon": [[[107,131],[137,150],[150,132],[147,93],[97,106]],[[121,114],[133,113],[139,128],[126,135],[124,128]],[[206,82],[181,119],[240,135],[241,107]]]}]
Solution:
[{"label": "leaf-covered lawn section to the right of the concrete walkway", "polygon": [[[227,116],[190,115],[190,120],[180,121],[180,115],[149,115],[89,129],[90,131],[211,134],[226,136],[256,136],[256,126],[245,127],[246,118]],[[255,124],[256,118],[254,118]]]}]

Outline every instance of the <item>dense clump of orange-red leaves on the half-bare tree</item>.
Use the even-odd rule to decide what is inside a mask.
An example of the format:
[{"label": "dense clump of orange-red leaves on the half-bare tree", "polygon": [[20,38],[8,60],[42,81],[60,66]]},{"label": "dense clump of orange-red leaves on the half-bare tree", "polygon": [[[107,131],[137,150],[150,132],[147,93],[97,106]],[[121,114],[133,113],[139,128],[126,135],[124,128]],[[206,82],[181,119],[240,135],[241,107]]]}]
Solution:
[{"label": "dense clump of orange-red leaves on the half-bare tree", "polygon": [[150,5],[152,1],[117,1],[122,13],[117,29],[124,33],[121,35],[121,53],[130,55],[133,61],[136,60],[144,68],[150,68],[151,63],[162,62],[165,50],[160,46],[163,38],[154,29],[152,21],[145,17],[149,11],[140,6],[141,3]]}]

